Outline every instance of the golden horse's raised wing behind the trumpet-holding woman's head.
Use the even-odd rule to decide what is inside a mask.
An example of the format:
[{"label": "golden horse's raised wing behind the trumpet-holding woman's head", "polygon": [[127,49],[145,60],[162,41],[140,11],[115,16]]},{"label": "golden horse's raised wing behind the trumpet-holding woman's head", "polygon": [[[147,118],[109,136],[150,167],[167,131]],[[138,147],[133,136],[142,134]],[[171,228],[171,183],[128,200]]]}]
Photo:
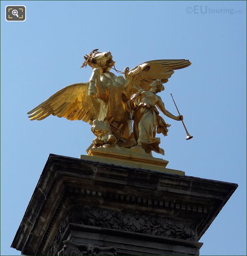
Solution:
[{"label": "golden horse's raised wing behind the trumpet-holding woman's head", "polygon": [[[133,77],[133,85],[149,91],[149,85],[155,79],[161,79],[162,83],[168,82],[174,70],[191,65],[189,60],[153,60],[146,61],[132,68],[128,76]],[[141,72],[140,72],[141,71]]]}]

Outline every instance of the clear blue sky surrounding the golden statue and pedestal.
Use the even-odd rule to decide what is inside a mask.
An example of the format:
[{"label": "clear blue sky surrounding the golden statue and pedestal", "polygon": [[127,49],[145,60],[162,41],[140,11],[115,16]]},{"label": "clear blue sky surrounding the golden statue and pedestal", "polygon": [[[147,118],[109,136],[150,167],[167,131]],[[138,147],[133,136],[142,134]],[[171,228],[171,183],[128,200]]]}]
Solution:
[{"label": "clear blue sky surrounding the golden statue and pedestal", "polygon": [[[5,21],[6,5],[25,5],[26,21]],[[20,255],[10,245],[48,155],[79,157],[94,138],[87,123],[31,122],[26,113],[88,81],[91,69],[80,66],[95,48],[111,51],[118,70],[192,62],[160,96],[177,114],[173,93],[194,138],[186,141],[182,123],[165,118],[172,126],[161,138],[163,158],[186,175],[238,183],[201,238],[200,255],[246,255],[246,1],[1,1],[1,255]]]}]

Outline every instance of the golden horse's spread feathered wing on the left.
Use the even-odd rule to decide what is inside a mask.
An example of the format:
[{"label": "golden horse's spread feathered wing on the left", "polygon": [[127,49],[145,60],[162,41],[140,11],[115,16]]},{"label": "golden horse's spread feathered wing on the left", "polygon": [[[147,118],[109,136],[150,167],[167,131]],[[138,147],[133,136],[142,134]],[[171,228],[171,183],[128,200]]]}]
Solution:
[{"label": "golden horse's spread feathered wing on the left", "polygon": [[29,111],[28,117],[30,120],[43,120],[52,114],[92,124],[93,120],[98,119],[103,105],[100,98],[88,95],[88,87],[88,82],[66,86]]}]

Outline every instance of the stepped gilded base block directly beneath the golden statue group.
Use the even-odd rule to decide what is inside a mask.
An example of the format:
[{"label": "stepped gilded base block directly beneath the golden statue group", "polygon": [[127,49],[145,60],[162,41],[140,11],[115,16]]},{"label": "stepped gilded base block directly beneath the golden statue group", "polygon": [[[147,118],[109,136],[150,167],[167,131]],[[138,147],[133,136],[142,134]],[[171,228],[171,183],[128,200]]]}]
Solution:
[{"label": "stepped gilded base block directly beneath the golden statue group", "polygon": [[124,148],[118,145],[105,144],[100,147],[92,147],[88,150],[88,155],[81,155],[81,159],[95,160],[98,162],[132,166],[141,169],[162,171],[185,175],[184,171],[166,168],[167,160],[152,157],[141,147]]}]

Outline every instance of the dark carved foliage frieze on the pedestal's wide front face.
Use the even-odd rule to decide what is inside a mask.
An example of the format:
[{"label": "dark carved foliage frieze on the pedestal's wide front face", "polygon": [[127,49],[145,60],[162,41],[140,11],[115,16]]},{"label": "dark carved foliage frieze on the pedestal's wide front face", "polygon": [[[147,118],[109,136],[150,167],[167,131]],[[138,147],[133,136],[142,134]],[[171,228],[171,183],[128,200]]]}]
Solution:
[{"label": "dark carved foliage frieze on the pedestal's wide front face", "polygon": [[108,229],[195,241],[195,226],[192,222],[174,221],[154,214],[75,205],[73,206],[73,222]]}]

